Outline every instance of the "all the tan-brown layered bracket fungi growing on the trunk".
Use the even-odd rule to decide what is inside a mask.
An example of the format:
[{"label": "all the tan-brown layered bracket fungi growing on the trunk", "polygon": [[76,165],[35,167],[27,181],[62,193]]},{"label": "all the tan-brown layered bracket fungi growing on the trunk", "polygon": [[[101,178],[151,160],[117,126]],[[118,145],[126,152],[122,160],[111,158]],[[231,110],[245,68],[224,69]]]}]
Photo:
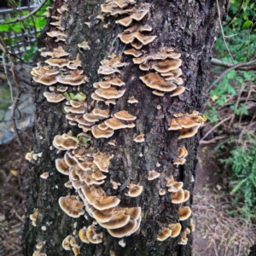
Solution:
[{"label": "all the tan-brown layered bracket fungi growing on the trunk", "polygon": [[[147,71],[140,79],[153,90],[155,96],[178,96],[183,93],[185,87],[183,84],[181,70],[181,54],[171,48],[154,49],[155,52],[145,54],[143,46],[154,41],[157,36],[148,35],[153,28],[141,25],[142,20],[147,20],[150,16],[150,4],[137,4],[133,0],[107,0],[101,5],[102,14],[97,15],[97,19],[104,20],[107,16],[125,15],[125,18],[116,20],[120,26],[125,26],[125,30],[119,33],[118,38],[124,44],[131,44],[130,49],[125,50],[125,55],[133,56],[133,63],[138,67]],[[50,8],[48,9],[50,11]],[[54,28],[51,32],[47,32],[50,38],[55,38],[55,42],[65,42],[67,35],[65,28],[61,26],[61,14],[68,11],[67,6],[63,5],[57,10],[59,16],[51,16],[57,21],[50,22]],[[48,17],[49,12],[47,14]],[[145,21],[146,22],[146,21]],[[145,23],[143,22],[143,23]],[[105,26],[106,27],[106,26]],[[63,44],[63,43],[61,43]],[[90,49],[86,41],[78,44],[79,49]],[[44,63],[38,63],[38,67],[32,69],[33,80],[38,84],[48,86],[48,91],[44,91],[44,97],[48,102],[61,102],[66,100],[65,111],[69,125],[78,125],[83,132],[76,137],[72,132],[56,135],[53,146],[65,152],[63,158],[55,160],[55,167],[58,172],[68,177],[65,186],[73,188],[78,195],[66,195],[59,199],[61,209],[72,218],[79,218],[87,212],[93,223],[79,230],[80,241],[85,243],[102,242],[102,232],[98,233],[96,224],[108,230],[113,237],[131,236],[140,227],[141,224],[141,207],[119,207],[119,195],[107,195],[104,191],[104,183],[108,180],[108,168],[113,154],[96,151],[90,143],[91,136],[87,132],[91,132],[92,136],[97,138],[112,137],[115,130],[135,127],[136,116],[127,110],[119,109],[118,112],[112,113],[111,107],[116,101],[125,94],[125,82],[121,80],[121,69],[127,63],[122,62],[122,55],[111,54],[108,58],[101,61],[97,73],[102,75],[93,84],[95,88],[91,94],[91,102],[86,102],[86,96],[82,92],[77,95],[68,93],[68,89],[75,87],[79,91],[79,85],[88,82],[87,77],[83,74],[84,69],[79,59],[79,54],[72,60],[69,53],[58,46],[52,50],[40,49],[41,55],[46,58]],[[134,96],[128,100],[130,104],[136,104],[138,101]],[[160,106],[157,107],[160,109]],[[194,111],[193,113],[177,113],[173,114],[169,131],[180,131],[178,139],[192,137],[198,131],[199,127],[205,122],[204,115]],[[135,143],[143,143],[145,141],[144,134],[135,137]],[[115,140],[108,142],[109,145],[115,146]],[[42,155],[42,154],[41,154]],[[188,155],[187,149],[177,148],[177,158],[174,165],[183,165]],[[142,155],[140,155],[142,156]],[[39,157],[37,155],[37,157]],[[32,160],[33,152],[26,155],[26,159]],[[156,164],[160,166],[159,163]],[[48,172],[41,175],[42,178],[49,177]],[[152,181],[160,177],[160,172],[154,170],[148,172],[148,180]],[[118,189],[121,183],[115,182],[110,178],[109,183],[113,185],[113,189]],[[189,191],[183,189],[183,183],[174,180],[174,177],[167,179],[166,187],[171,193],[170,198],[173,204],[178,204],[179,221],[186,220],[191,215],[189,207],[183,207],[183,202],[189,200]],[[143,192],[143,186],[139,184],[128,185],[129,191],[125,194],[130,197],[137,197]],[[165,195],[165,189],[160,189],[160,195]],[[85,210],[84,210],[85,209]],[[36,225],[38,210],[31,215],[32,224]],[[192,220],[191,220],[192,221]],[[43,227],[42,227],[43,229]],[[195,224],[191,222],[191,230],[195,229]],[[186,229],[182,232],[180,223],[168,224],[168,227],[160,230],[157,236],[158,241],[165,241],[168,237],[180,236],[179,244],[186,244],[190,230]],[[119,241],[119,245],[125,247],[123,240]],[[79,254],[79,245],[73,236],[67,236],[62,247],[65,250],[73,250],[75,255]],[[35,253],[40,253],[40,250]],[[114,254],[113,252],[110,252]]]}]

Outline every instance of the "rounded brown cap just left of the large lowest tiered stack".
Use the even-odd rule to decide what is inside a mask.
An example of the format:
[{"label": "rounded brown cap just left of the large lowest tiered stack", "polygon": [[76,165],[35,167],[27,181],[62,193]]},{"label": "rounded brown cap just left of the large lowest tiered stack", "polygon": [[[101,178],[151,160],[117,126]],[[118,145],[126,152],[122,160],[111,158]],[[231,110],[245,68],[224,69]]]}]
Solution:
[{"label": "rounded brown cap just left of the large lowest tiered stack", "polygon": [[59,205],[61,209],[70,217],[79,218],[80,215],[84,214],[83,202],[77,200],[74,195],[61,197],[59,199]]}]

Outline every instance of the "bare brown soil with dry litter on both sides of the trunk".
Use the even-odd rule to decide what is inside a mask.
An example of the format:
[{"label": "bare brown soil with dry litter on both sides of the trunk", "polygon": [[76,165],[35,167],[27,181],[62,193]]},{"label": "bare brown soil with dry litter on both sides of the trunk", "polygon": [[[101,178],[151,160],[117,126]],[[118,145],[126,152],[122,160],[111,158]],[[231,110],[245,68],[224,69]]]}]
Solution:
[{"label": "bare brown soil with dry litter on both sides of the trunk", "polygon": [[[22,255],[29,178],[24,156],[30,151],[31,140],[26,134],[31,132],[20,135],[26,149],[16,140],[0,146],[0,255],[4,256]],[[256,241],[256,226],[239,216],[230,217],[229,211],[236,207],[231,204],[229,173],[216,164],[219,157],[212,144],[200,147],[192,207],[193,255],[247,256]]]}]

